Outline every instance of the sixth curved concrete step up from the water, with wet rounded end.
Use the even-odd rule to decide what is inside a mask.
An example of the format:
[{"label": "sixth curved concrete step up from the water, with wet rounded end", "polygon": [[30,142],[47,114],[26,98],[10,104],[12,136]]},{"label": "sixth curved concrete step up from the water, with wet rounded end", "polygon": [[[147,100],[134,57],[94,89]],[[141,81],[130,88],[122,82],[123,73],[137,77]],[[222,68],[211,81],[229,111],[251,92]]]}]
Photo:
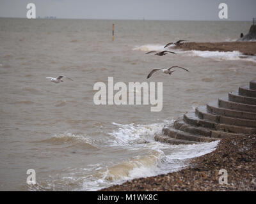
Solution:
[{"label": "sixth curved concrete step up from the water, with wet rounded end", "polygon": [[256,120],[256,113],[221,108],[218,106],[218,101],[207,103],[206,107],[207,112],[209,113],[216,113],[217,115],[224,115],[227,117],[238,117],[241,119]]}]

